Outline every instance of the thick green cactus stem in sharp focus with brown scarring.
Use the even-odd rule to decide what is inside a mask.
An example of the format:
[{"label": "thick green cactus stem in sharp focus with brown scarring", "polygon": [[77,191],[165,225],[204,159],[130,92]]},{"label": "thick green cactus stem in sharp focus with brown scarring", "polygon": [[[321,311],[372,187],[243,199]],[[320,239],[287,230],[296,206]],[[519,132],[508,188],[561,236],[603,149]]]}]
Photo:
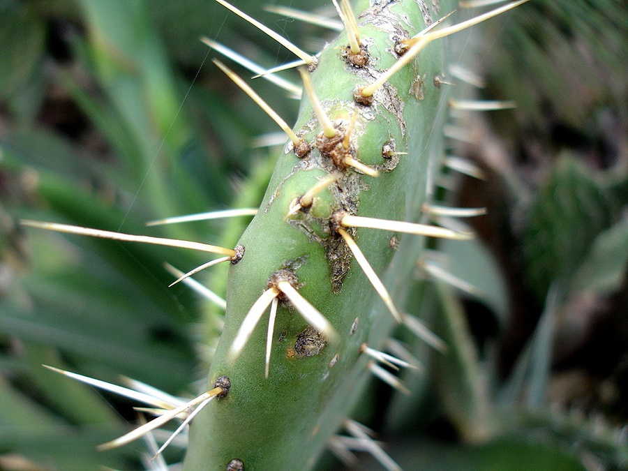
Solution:
[{"label": "thick green cactus stem in sharp focus with brown scarring", "polygon": [[447,103],[433,39],[449,31],[428,32],[438,11],[426,2],[358,2],[357,22],[343,7],[347,31],[302,57],[308,98],[230,267],[209,383],[226,375],[232,387],[190,426],[184,469],[230,469],[234,459],[253,470],[311,468],[351,427],[369,369],[381,371],[381,354],[368,353],[386,348],[398,322],[442,347],[398,306],[425,246],[404,232],[468,238],[421,215],[442,165]]}]

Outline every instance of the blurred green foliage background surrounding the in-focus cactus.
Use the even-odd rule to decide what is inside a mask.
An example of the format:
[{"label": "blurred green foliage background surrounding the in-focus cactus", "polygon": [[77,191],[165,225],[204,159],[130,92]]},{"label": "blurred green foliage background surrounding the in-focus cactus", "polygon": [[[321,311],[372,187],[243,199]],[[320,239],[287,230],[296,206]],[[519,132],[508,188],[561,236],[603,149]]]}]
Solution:
[{"label": "blurred green foliage background surrounding the in-focus cactus", "polygon": [[[329,36],[237,6],[312,52]],[[477,290],[417,288],[449,354],[420,353],[410,398],[379,384],[369,396],[365,421],[405,469],[627,468],[627,33],[622,1],[532,0],[454,41],[455,62],[484,82],[474,93],[518,108],[453,117],[469,138],[449,154],[486,181],[446,174],[444,199],[488,215],[477,241],[440,247]],[[142,468],[142,443],[94,450],[128,430],[134,404],[41,364],[183,396],[202,387],[220,312],[168,288],[163,262],[187,271],[203,255],[18,225],[234,246],[246,218],[144,226],[255,207],[277,154],[255,147],[276,128],[200,36],[264,67],[292,60],[211,1],[0,0],[0,470]],[[294,120],[297,100],[253,86]],[[217,268],[200,279],[220,293]]]}]

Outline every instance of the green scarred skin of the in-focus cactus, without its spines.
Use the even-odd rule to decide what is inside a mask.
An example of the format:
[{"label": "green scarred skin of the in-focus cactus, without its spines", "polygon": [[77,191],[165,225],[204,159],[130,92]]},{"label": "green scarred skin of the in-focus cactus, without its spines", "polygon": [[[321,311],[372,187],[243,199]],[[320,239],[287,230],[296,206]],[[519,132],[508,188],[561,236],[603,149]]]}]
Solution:
[{"label": "green scarred skin of the in-focus cactus, without its spines", "polygon": [[[396,61],[393,31],[405,30],[413,36],[424,29],[426,5],[424,0],[401,0],[369,7],[368,2],[359,1],[354,12],[370,55],[366,68],[354,68],[343,59],[346,34],[320,55],[312,80],[324,110],[332,121],[342,119],[345,124],[359,112],[352,133],[356,158],[380,169],[380,176],[369,177],[351,167],[341,170],[343,177],[317,196],[308,214],[285,220],[294,198],[333,167],[315,148],[320,126],[304,94],[294,130],[304,133],[312,151],[299,159],[287,145],[260,211],[239,241],[246,253],[230,267],[225,329],[209,371],[209,384],[227,375],[232,388],[227,397],[202,410],[190,424],[185,470],[225,470],[234,459],[241,460],[247,471],[312,468],[366,387],[371,360],[361,355],[360,346],[367,343],[382,348],[396,322],[343,239],[329,229],[328,220],[331,211],[343,208],[359,216],[417,222],[421,204],[431,195],[431,175],[442,155],[441,128],[446,114],[446,87],[433,82],[435,75],[443,75],[443,42],[428,45],[418,59],[394,75],[375,93],[372,106],[356,105],[352,98],[357,86],[372,82],[373,75]],[[441,8],[447,13],[452,7],[447,4]],[[435,11],[431,15],[433,20],[440,17]],[[384,159],[382,147],[391,140],[395,151],[408,155]],[[397,158],[398,162],[392,163]],[[314,216],[317,219],[313,220]],[[315,237],[324,242],[314,240],[303,227],[316,232]],[[372,229],[347,232],[354,234],[398,307],[403,307],[406,281],[412,276],[423,238]],[[401,239],[397,251],[390,244],[394,235]],[[345,278],[335,285],[326,257],[330,247],[350,262]],[[267,289],[269,278],[286,267],[292,267],[299,293],[327,317],[338,340],[329,339],[324,346],[309,345],[320,351],[300,356],[295,345],[307,323],[297,311],[280,303],[270,375],[265,379],[267,314],[237,359],[230,358],[229,349],[249,309]]]}]

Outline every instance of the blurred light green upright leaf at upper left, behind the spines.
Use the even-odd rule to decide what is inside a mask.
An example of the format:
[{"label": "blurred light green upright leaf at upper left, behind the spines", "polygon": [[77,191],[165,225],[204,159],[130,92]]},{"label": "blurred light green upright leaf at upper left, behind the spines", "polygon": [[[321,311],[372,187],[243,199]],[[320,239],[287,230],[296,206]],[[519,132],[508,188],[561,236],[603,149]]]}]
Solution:
[{"label": "blurred light green upright leaf at upper left, behind the spines", "polygon": [[[128,161],[137,195],[155,217],[207,209],[200,188],[181,167],[195,139],[176,80],[143,1],[83,0],[89,59],[105,94],[135,143]],[[220,180],[218,180],[220,182]],[[171,197],[177,192],[177,198]],[[201,208],[204,206],[203,208]],[[186,208],[185,210],[182,208]]]}]

